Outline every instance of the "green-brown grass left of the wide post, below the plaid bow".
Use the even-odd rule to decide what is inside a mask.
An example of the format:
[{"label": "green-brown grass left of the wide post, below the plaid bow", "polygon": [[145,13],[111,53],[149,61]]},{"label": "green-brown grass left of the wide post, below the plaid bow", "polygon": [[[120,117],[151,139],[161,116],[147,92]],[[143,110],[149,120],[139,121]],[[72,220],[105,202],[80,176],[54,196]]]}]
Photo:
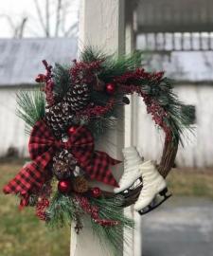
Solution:
[{"label": "green-brown grass left of the wide post, below the plaid bow", "polygon": [[[22,167],[23,161],[0,163],[0,187]],[[18,210],[19,199],[0,192],[0,256],[68,256],[69,228],[51,230],[34,209]]]}]

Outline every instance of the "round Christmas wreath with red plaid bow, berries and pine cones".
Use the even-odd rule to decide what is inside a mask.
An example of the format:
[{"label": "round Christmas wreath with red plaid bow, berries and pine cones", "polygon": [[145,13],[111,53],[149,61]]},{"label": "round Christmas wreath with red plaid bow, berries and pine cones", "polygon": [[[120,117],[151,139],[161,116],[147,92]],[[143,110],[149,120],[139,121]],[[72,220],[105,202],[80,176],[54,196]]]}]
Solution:
[{"label": "round Christmas wreath with red plaid bow, berries and pine cones", "polygon": [[[71,66],[53,68],[43,61],[46,72],[36,78],[42,87],[18,95],[18,114],[30,133],[31,162],[4,187],[5,193],[20,196],[20,208],[35,207],[36,215],[50,226],[75,221],[80,232],[82,216],[88,215],[92,229],[115,251],[122,247],[122,229],[133,229],[133,220],[122,209],[137,200],[145,183],[142,176],[142,182],[127,193],[116,191],[120,183],[110,167],[120,161],[97,151],[96,141],[115,127],[119,106],[136,93],[165,132],[160,164],[146,162],[143,168],[151,166],[166,177],[191,123],[191,107],[178,101],[164,72],[147,72],[141,63],[141,52],[117,59],[91,47]],[[115,187],[115,192],[91,187],[91,179]]]}]

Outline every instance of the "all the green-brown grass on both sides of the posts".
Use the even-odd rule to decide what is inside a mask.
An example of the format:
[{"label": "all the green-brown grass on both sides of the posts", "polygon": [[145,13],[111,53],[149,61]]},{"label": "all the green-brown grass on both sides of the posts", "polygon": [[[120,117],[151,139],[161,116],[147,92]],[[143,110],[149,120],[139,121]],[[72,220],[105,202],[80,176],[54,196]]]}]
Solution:
[{"label": "all the green-brown grass on both sides of the posts", "polygon": [[[2,188],[23,166],[24,161],[0,162]],[[168,177],[174,195],[205,196],[213,199],[212,170],[177,170]],[[0,256],[68,256],[69,228],[47,229],[34,209],[18,210],[19,200],[0,192]]]}]

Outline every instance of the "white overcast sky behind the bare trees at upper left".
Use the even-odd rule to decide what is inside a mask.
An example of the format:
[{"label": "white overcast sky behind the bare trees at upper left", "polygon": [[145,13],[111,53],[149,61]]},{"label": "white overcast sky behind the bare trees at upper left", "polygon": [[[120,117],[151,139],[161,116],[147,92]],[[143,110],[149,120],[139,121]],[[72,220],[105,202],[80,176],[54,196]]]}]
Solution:
[{"label": "white overcast sky behind the bare trees at upper left", "polygon": [[[54,27],[55,9],[54,1],[51,2],[51,24]],[[38,0],[41,8],[44,10],[44,0]],[[66,9],[65,28],[68,29],[72,24],[78,21],[79,0],[62,0],[63,3],[69,5]],[[27,17],[27,26],[25,37],[42,37],[44,32],[38,21],[34,0],[0,0],[0,37],[8,38],[13,35],[13,28],[19,25],[23,19]]]}]

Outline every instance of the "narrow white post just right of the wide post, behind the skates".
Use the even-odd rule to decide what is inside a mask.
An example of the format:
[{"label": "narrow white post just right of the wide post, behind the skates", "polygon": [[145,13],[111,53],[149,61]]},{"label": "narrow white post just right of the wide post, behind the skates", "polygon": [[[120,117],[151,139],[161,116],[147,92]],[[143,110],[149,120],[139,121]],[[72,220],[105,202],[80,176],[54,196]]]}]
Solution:
[{"label": "narrow white post just right of the wide post, behind the skates", "polygon": [[[135,49],[135,1],[127,1],[126,3],[126,53],[130,53]],[[137,146],[137,110],[138,97],[133,95],[130,97],[131,104],[125,107],[125,146]],[[132,245],[124,245],[124,256],[142,256],[142,229],[141,217],[137,212],[133,211],[133,207],[125,210],[126,215],[133,218],[135,229],[133,233],[127,231],[132,239]]]}]

